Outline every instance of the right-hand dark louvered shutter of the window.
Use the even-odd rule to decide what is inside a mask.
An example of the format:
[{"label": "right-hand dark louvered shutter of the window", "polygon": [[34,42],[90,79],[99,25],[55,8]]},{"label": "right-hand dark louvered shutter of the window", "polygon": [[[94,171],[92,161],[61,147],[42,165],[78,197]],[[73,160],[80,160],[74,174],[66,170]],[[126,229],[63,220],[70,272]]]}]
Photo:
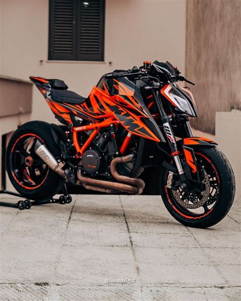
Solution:
[{"label": "right-hand dark louvered shutter of the window", "polygon": [[104,0],[80,1],[78,14],[78,52],[81,61],[103,61],[104,59]]}]

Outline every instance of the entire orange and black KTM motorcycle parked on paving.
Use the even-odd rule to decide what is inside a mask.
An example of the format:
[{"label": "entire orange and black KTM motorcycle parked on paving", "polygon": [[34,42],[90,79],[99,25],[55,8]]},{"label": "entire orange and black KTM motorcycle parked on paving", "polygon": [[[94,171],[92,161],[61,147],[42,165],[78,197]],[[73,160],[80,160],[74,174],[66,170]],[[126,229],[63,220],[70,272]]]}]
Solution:
[{"label": "entire orange and black KTM motorcycle parked on paving", "polygon": [[[141,194],[145,168],[158,167],[159,193],[169,213],[205,228],[228,213],[234,175],[217,143],[194,137],[197,109],[169,62],[105,74],[88,98],[64,81],[31,76],[59,122],[28,122],[13,134],[7,170],[16,190],[51,198],[65,182],[105,193]],[[148,169],[147,169],[148,170]]]}]

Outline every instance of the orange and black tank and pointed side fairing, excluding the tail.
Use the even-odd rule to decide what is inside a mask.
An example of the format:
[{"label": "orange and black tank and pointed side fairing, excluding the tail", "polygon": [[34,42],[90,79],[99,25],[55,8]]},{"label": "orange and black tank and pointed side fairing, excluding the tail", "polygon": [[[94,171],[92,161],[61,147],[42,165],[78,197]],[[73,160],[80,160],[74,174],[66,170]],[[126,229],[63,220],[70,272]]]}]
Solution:
[{"label": "orange and black tank and pointed side fairing, excluding the tail", "polygon": [[[110,81],[112,81],[111,89]],[[128,132],[134,135],[157,142],[165,141],[141,95],[137,95],[135,85],[129,86],[127,82],[129,81],[125,78],[106,80],[102,77],[97,86],[92,89],[88,99],[74,107],[95,119],[115,117]],[[145,124],[147,119],[154,125],[152,129]]]}]

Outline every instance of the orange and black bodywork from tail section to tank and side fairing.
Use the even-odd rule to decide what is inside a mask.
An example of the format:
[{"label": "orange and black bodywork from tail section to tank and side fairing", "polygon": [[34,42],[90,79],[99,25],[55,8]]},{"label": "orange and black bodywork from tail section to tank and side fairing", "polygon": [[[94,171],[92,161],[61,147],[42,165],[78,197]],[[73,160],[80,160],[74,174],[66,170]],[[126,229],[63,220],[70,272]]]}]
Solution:
[{"label": "orange and black bodywork from tail section to tank and side fairing", "polygon": [[109,82],[102,77],[99,84],[92,89],[87,100],[81,104],[53,101],[49,93],[51,86],[45,89],[42,85],[42,83],[48,84],[49,81],[37,77],[35,79],[38,80],[36,85],[44,95],[50,109],[57,119],[64,124],[71,125],[73,123],[71,114],[91,122],[95,122],[97,119],[115,117],[128,132],[134,135],[157,142],[165,141],[155,120],[146,108],[142,96],[136,93],[135,85],[132,87],[127,85],[129,81],[125,78],[119,81],[109,79],[108,81],[112,81],[110,91]]}]

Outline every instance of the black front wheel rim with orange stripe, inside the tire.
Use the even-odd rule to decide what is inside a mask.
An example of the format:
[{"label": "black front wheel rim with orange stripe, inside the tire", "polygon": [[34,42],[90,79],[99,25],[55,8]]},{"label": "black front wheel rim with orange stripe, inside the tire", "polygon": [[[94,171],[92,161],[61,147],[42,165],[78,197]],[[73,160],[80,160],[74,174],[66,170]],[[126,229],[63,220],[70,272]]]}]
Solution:
[{"label": "black front wheel rim with orange stripe, inside the tire", "polygon": [[[220,193],[220,177],[214,164],[203,154],[195,153],[197,163],[203,168],[208,176],[210,191],[207,201],[200,207],[189,209],[180,205],[175,199],[172,190],[165,186],[165,192],[173,209],[181,216],[189,219],[200,219],[211,213],[218,203]],[[164,177],[167,180],[168,171]],[[166,182],[165,182],[166,183]]]}]

